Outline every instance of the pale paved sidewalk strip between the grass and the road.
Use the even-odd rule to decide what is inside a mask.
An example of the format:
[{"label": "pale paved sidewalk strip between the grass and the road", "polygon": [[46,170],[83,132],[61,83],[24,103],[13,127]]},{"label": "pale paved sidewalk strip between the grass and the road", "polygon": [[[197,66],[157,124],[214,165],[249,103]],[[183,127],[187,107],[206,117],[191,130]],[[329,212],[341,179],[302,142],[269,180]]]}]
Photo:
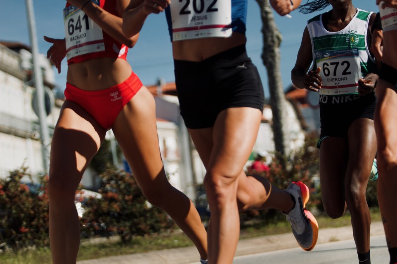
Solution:
[{"label": "pale paved sidewalk strip between the grass and the road", "polygon": [[[382,222],[373,222],[371,224],[371,236],[384,234]],[[317,244],[348,239],[353,239],[351,226],[324,229],[320,227]],[[280,235],[269,235],[240,240],[237,246],[236,256],[295,247],[298,247],[298,244],[292,232]],[[199,253],[195,247],[186,247],[79,261],[77,264],[199,264]]]}]

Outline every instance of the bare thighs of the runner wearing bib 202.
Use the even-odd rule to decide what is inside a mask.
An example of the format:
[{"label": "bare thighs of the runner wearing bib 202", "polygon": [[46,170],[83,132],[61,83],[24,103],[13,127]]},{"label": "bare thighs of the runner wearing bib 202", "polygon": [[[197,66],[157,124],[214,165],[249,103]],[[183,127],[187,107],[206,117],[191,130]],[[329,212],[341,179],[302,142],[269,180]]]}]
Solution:
[{"label": "bare thighs of the runner wearing bib 202", "polygon": [[237,177],[257,138],[262,112],[233,107],[220,112],[213,128],[189,129],[207,170]]}]

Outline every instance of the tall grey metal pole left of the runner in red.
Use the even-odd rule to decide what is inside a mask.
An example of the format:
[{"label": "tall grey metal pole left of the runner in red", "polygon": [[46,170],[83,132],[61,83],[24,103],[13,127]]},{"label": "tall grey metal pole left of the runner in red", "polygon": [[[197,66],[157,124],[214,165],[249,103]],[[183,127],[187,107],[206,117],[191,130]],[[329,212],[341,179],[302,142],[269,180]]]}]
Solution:
[{"label": "tall grey metal pole left of the runner in red", "polygon": [[30,45],[32,48],[33,57],[33,72],[34,72],[34,82],[37,92],[37,105],[39,107],[39,120],[40,120],[40,136],[42,140],[42,158],[43,158],[43,168],[44,173],[49,171],[49,150],[50,138],[48,132],[48,126],[46,123],[46,111],[45,111],[45,99],[44,99],[44,87],[43,87],[43,77],[41,75],[41,69],[39,64],[39,50],[37,44],[37,33],[36,33],[36,22],[33,11],[33,0],[26,0],[26,9],[28,16],[28,26],[30,35]]}]

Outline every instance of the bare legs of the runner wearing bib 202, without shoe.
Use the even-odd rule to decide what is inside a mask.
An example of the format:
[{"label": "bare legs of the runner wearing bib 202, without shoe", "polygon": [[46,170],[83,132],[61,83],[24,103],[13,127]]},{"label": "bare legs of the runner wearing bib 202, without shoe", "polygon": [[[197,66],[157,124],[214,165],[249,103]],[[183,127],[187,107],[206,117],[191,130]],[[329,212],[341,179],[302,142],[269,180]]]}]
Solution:
[{"label": "bare legs of the runner wearing bib 202, without shoe", "polygon": [[[247,208],[248,203],[259,208],[271,193],[267,181],[247,179],[243,172],[260,120],[261,111],[258,109],[228,108],[218,115],[214,127],[189,129],[207,169],[204,185],[211,210],[208,227],[210,264],[230,264],[233,261],[240,230],[238,204],[241,208]],[[289,211],[293,202],[288,193],[284,195],[285,200],[279,203],[284,205],[282,210]],[[236,197],[239,197],[239,203]]]}]

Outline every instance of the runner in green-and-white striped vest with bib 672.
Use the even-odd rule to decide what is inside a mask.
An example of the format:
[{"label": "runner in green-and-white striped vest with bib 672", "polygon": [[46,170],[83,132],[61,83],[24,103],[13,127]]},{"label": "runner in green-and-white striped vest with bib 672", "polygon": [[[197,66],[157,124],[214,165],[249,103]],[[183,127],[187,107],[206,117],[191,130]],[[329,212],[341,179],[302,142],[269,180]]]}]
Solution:
[{"label": "runner in green-and-white striped vest with bib 672", "polygon": [[347,206],[359,262],[369,264],[371,217],[365,194],[376,155],[378,79],[369,29],[376,14],[354,7],[351,0],[312,0],[299,9],[312,13],[330,4],[330,11],[308,20],[291,77],[297,88],[320,93],[324,209],[339,218]]}]

